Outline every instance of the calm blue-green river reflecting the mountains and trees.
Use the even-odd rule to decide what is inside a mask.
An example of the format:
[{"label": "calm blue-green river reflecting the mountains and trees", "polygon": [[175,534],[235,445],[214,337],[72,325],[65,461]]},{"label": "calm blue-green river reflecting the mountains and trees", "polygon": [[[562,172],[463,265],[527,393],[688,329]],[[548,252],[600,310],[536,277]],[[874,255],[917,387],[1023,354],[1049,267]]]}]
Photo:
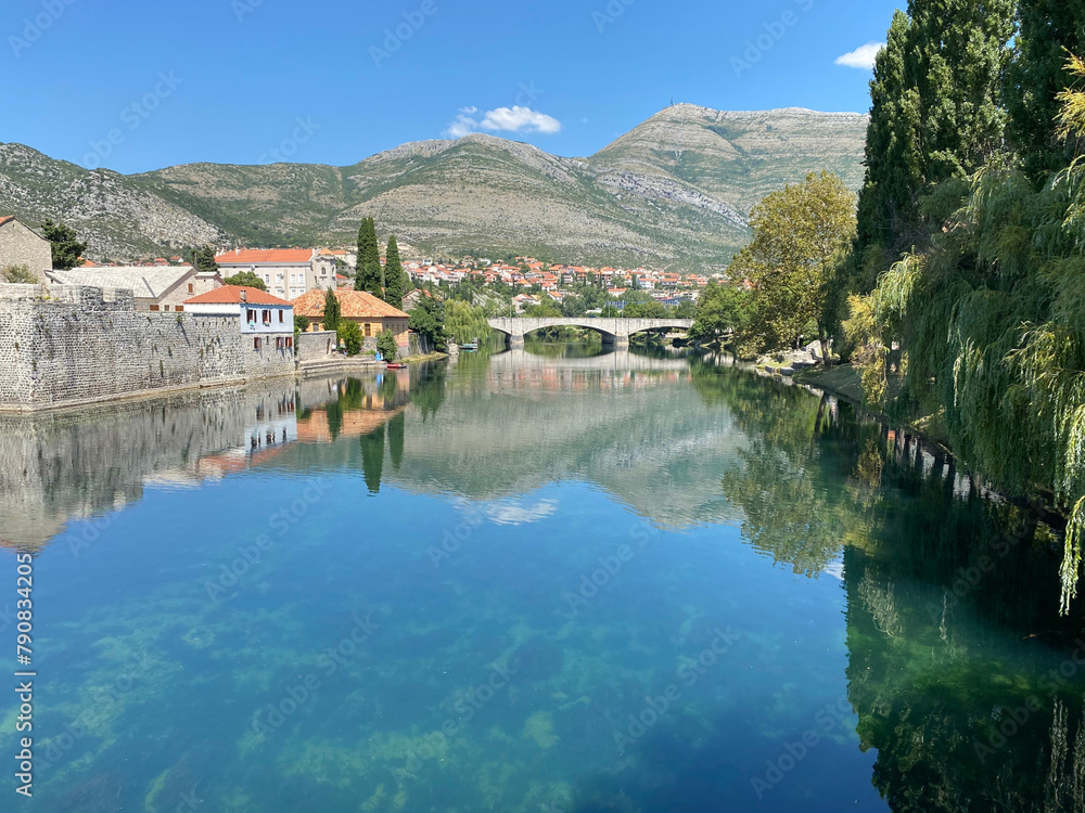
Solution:
[{"label": "calm blue-green river reflecting the mountains and trees", "polygon": [[461,354],[2,418],[0,468],[20,810],[1085,810],[1058,530],[800,387]]}]

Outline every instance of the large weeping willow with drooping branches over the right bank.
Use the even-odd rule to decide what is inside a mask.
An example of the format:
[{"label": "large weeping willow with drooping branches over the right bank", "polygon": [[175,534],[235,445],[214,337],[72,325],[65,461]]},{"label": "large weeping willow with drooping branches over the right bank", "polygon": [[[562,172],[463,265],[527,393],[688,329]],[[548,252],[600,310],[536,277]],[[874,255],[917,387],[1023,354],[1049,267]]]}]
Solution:
[{"label": "large weeping willow with drooping branches over the right bank", "polygon": [[[1069,75],[1085,80],[1085,62]],[[1060,136],[1085,137],[1085,92],[1058,95]],[[1077,595],[1085,533],[1085,156],[1042,188],[1000,155],[926,202],[942,223],[850,300],[867,398],[884,399],[886,358],[905,348],[909,411],[939,414],[960,457],[1000,487],[1048,492],[1069,517],[1062,611]]]}]

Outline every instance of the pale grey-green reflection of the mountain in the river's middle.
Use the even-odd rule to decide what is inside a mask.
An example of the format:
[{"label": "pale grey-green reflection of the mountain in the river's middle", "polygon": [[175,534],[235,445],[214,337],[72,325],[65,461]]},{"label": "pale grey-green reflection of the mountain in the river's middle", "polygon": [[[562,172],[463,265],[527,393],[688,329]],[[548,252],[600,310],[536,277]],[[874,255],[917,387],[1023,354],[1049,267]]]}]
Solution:
[{"label": "pale grey-green reflection of the mountain in the river's middle", "polygon": [[[423,420],[412,388],[403,463],[385,479],[472,500],[582,479],[661,525],[728,518],[718,482],[743,437],[725,410],[705,410],[692,388],[675,386],[689,378],[682,359],[626,351],[461,356],[437,420]],[[295,453],[276,465],[363,468],[353,443]]]}]

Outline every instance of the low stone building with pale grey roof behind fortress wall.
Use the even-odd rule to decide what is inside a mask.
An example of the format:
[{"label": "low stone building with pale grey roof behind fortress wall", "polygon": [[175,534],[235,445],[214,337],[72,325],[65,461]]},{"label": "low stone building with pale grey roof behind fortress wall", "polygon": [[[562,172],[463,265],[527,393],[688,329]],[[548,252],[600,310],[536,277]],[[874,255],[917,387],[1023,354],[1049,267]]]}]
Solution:
[{"label": "low stone building with pale grey roof behind fortress wall", "polygon": [[199,271],[192,266],[84,266],[71,271],[49,271],[47,276],[60,285],[130,291],[137,311],[183,311],[186,299],[222,285],[221,274]]}]

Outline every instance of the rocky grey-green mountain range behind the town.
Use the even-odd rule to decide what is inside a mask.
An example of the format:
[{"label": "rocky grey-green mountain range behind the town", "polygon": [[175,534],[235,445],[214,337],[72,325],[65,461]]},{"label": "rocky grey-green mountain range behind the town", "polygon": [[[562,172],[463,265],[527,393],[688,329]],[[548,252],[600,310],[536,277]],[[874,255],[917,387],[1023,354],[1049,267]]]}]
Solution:
[{"label": "rocky grey-green mountain range behind the town", "polygon": [[347,167],[186,164],[119,175],[0,144],[0,214],[62,220],[98,260],[186,248],[350,245],[362,217],[420,254],[533,254],[700,270],[748,240],[765,194],[808,172],[863,180],[868,117],[667,107],[587,158],[474,133]]}]

